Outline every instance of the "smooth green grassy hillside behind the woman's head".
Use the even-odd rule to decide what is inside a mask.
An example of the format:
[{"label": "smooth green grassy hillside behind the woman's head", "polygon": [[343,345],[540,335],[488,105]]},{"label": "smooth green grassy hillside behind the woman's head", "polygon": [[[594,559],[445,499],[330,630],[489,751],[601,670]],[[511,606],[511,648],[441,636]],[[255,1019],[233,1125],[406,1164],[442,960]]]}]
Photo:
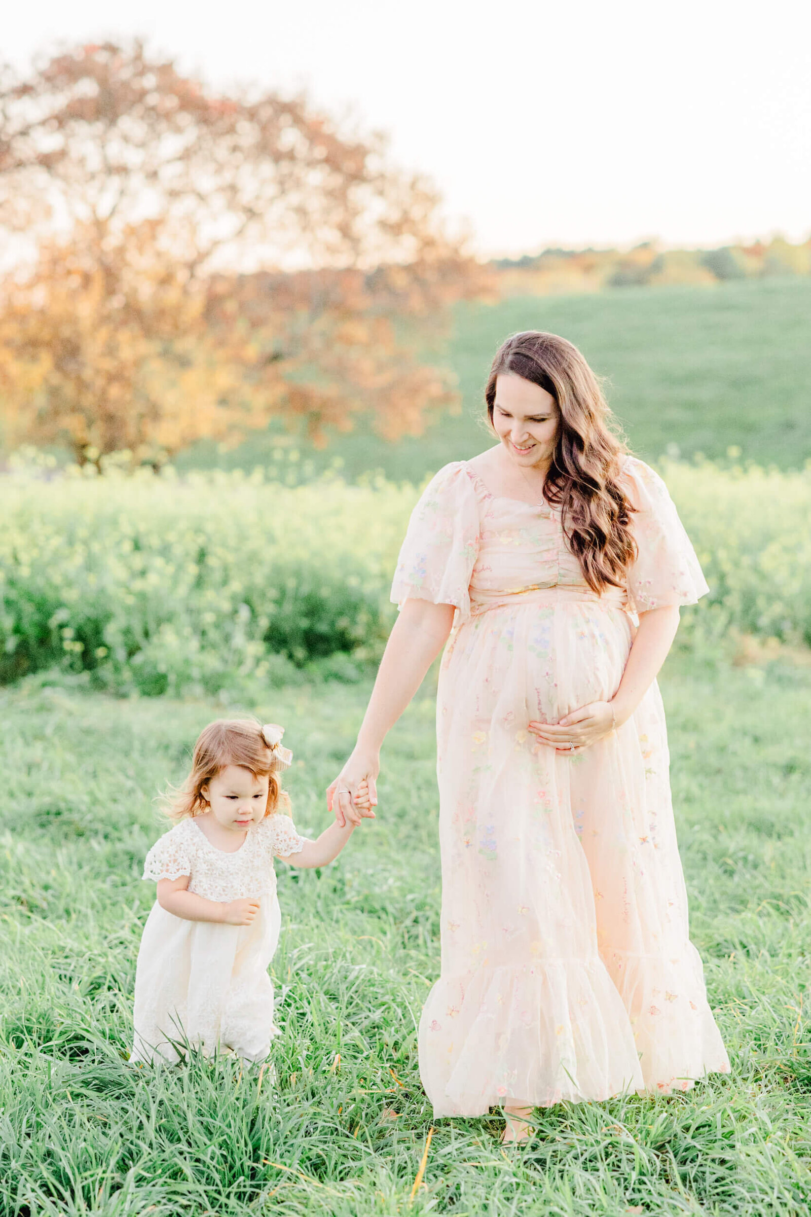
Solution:
[{"label": "smooth green grassy hillside behind the woman's head", "polygon": [[[576,343],[609,378],[610,404],[646,460],[671,445],[682,456],[723,460],[737,445],[744,460],[799,469],[811,458],[810,316],[811,280],[801,277],[462,305],[445,354],[462,392],[460,416],[439,417],[422,437],[398,444],[359,428],[325,453],[306,445],[302,453],[316,469],[338,456],[351,477],[379,467],[413,482],[475,455],[491,443],[480,421],[490,360],[508,333],[535,329]],[[270,460],[276,445],[274,434],[230,453],[201,444],[178,465],[250,469]]]}]

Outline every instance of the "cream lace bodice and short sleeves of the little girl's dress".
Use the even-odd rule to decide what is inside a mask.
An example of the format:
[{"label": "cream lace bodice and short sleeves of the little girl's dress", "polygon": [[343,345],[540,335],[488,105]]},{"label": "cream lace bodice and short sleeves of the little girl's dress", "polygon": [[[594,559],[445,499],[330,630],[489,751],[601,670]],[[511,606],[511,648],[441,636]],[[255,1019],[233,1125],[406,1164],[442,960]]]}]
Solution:
[{"label": "cream lace bodice and short sleeves of the little girl's dress", "polygon": [[304,839],[289,815],[265,817],[248,829],[243,845],[225,853],[210,843],[193,819],[181,820],[156,841],[143,863],[143,877],[191,875],[188,891],[208,901],[236,901],[276,891],[274,857],[298,853]]}]

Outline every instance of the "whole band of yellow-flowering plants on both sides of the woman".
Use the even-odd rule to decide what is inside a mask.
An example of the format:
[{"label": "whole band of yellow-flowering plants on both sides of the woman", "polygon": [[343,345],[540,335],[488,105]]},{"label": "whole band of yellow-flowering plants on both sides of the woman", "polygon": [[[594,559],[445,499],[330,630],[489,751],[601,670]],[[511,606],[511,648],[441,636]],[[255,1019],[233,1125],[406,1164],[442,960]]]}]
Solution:
[{"label": "whole band of yellow-flowering plants on both sides of the woman", "polygon": [[[811,645],[811,471],[663,472],[711,594],[681,644]],[[216,692],[379,655],[413,487],[261,475],[5,479],[0,682],[60,666],[119,692]]]}]

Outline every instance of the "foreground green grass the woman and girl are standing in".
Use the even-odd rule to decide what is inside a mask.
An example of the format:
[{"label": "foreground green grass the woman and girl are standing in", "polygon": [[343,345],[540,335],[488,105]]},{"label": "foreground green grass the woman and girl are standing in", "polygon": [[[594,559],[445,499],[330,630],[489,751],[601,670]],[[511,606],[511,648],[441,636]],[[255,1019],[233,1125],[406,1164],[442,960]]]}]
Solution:
[{"label": "foreground green grass the woman and girl are standing in", "polygon": [[[663,690],[692,932],[732,1073],[552,1109],[523,1152],[502,1152],[496,1118],[440,1121],[413,1204],[432,1126],[416,1025],[439,947],[430,689],[387,742],[379,819],[321,873],[280,865],[276,1084],[227,1060],[125,1064],[151,800],[223,703],[44,678],[4,691],[1,1217],[807,1213],[811,673],[680,661]],[[327,821],[321,792],[366,692],[303,685],[241,707],[286,724],[304,829]]]}]

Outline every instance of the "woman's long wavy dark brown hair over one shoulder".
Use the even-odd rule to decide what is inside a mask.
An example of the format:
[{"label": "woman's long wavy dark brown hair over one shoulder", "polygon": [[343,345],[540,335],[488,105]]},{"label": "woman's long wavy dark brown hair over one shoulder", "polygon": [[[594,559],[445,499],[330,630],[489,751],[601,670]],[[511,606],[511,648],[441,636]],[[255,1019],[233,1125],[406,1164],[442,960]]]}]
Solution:
[{"label": "woman's long wavy dark brown hair over one shoulder", "polygon": [[614,416],[599,381],[565,338],[539,330],[513,333],[496,353],[484,392],[491,426],[496,376],[505,372],[539,385],[557,402],[561,424],[544,498],[561,509],[569,549],[592,591],[623,587],[637,553],[635,509],[619,482],[627,448],[610,430]]}]

